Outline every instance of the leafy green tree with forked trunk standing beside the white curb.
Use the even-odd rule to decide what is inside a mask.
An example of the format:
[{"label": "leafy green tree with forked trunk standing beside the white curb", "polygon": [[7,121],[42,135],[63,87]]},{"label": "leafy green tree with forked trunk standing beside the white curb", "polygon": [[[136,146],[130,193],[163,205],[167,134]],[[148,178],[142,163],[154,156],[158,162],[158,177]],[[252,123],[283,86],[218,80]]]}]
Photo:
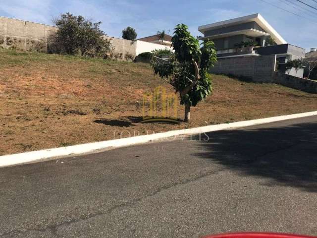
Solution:
[{"label": "leafy green tree with forked trunk standing beside the white curb", "polygon": [[208,70],[217,61],[216,49],[211,41],[200,48],[199,41],[191,36],[188,27],[178,24],[174,29],[172,47],[175,58],[166,62],[152,60],[154,73],[174,87],[180,104],[185,105],[184,121],[190,121],[190,108],[211,94]]}]

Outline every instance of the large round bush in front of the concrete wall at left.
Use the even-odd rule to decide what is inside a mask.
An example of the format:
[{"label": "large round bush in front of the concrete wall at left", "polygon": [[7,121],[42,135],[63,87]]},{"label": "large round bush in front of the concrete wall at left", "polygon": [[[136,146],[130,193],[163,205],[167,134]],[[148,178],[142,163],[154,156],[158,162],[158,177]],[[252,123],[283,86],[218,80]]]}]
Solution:
[{"label": "large round bush in front of the concrete wall at left", "polygon": [[102,22],[93,23],[67,12],[54,23],[58,29],[49,39],[51,53],[105,57],[112,49],[110,40],[104,38],[105,33],[100,29]]}]

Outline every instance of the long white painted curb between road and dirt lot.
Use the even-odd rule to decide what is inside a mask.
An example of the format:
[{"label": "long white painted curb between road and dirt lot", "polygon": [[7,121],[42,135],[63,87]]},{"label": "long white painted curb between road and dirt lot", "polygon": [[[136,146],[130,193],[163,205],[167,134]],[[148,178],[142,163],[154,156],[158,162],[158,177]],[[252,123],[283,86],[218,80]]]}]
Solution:
[{"label": "long white painted curb between road and dirt lot", "polygon": [[224,129],[234,129],[239,127],[251,126],[264,124],[274,121],[287,120],[287,119],[296,119],[309,116],[317,116],[316,112],[309,113],[300,113],[287,116],[279,116],[272,118],[264,119],[255,119],[255,120],[245,120],[232,123],[218,124],[218,125],[207,125],[197,128],[183,129],[183,130],[172,130],[163,133],[150,134],[150,135],[141,135],[129,138],[122,138],[116,140],[106,140],[101,142],[73,145],[67,147],[53,148],[47,150],[31,151],[20,154],[13,155],[4,155],[0,156],[0,167],[30,163],[37,160],[49,159],[54,157],[69,156],[69,155],[78,155],[89,152],[95,152],[98,150],[104,150],[107,148],[123,147],[128,145],[135,145],[140,143],[146,143],[152,140],[167,138],[177,135],[189,135],[189,134],[199,134],[210,131],[224,130]]}]

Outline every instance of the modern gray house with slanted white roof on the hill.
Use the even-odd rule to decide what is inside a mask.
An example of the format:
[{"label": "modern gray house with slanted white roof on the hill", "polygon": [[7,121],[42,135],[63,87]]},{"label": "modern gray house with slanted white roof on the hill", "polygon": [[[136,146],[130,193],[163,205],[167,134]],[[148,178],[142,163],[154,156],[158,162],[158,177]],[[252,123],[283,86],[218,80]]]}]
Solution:
[{"label": "modern gray house with slanted white roof on the hill", "polygon": [[[198,30],[204,34],[199,40],[214,42],[218,59],[276,55],[279,71],[285,72],[288,60],[305,57],[304,48],[288,44],[259,13],[199,26]],[[297,76],[302,77],[303,71]]]}]

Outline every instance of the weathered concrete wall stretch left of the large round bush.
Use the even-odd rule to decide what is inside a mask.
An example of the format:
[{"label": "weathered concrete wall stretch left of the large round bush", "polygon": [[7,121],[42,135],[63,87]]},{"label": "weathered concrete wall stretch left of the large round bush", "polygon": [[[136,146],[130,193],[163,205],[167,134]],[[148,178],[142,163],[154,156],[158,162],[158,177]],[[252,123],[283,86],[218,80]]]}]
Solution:
[{"label": "weathered concrete wall stretch left of the large round bush", "polygon": [[47,37],[57,30],[56,27],[0,17],[0,47],[23,51],[42,48],[46,51]]}]

